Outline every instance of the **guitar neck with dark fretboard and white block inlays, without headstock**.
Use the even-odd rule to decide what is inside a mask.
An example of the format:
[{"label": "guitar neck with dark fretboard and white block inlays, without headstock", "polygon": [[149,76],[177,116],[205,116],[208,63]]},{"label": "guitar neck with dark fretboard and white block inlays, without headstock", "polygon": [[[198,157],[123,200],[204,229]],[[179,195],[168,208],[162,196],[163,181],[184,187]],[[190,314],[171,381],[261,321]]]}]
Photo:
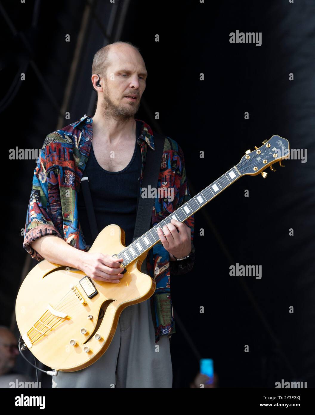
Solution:
[{"label": "guitar neck with dark fretboard and white block inlays, without headstock", "polygon": [[153,245],[159,242],[160,238],[156,230],[157,227],[162,229],[164,225],[170,223],[171,219],[184,222],[187,218],[197,212],[197,210],[201,209],[201,207],[204,207],[208,202],[210,202],[210,200],[215,198],[225,188],[230,186],[230,184],[240,178],[240,176],[241,173],[238,171],[237,167],[234,166],[231,170],[223,174],[223,176],[211,183],[211,185],[207,186],[196,196],[189,199],[186,203],[184,203],[184,205],[180,206],[165,219],[161,220],[157,225],[148,230],[148,232],[145,232],[145,234],[141,237],[135,239],[135,241],[128,245],[128,247],[124,248],[123,251],[117,254],[118,258],[124,258],[122,264],[126,267],[144,252],[151,249]]}]

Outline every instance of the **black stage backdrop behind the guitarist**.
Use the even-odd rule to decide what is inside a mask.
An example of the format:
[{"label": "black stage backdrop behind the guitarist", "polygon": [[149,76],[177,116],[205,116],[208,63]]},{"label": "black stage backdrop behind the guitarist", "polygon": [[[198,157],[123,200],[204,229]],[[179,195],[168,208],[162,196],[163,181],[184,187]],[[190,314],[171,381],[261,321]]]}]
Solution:
[{"label": "black stage backdrop behind the guitarist", "polygon": [[[148,70],[136,118],[182,147],[192,195],[274,134],[308,151],[306,163],[240,178],[196,213],[194,269],[171,280],[173,386],[189,387],[204,357],[222,388],[274,388],[281,379],[314,387],[315,2],[15,0],[0,12],[1,324],[15,327],[15,297],[36,264],[21,235],[36,163],[9,160],[9,149],[39,149],[48,133],[92,116],[93,55],[129,41]],[[236,30],[262,32],[262,46],[230,44]],[[236,262],[261,265],[262,278],[230,276]]]}]

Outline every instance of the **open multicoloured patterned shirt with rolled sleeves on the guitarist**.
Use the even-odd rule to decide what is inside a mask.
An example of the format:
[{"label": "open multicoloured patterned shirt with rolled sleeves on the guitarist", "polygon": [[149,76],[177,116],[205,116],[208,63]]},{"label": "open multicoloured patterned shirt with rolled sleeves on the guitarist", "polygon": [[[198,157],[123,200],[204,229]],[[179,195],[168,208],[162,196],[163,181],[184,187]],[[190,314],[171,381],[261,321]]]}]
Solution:
[{"label": "open multicoloured patterned shirt with rolled sleeves on the guitarist", "polygon": [[[141,120],[139,120],[141,121]],[[72,247],[88,251],[90,245],[85,238],[78,220],[78,192],[80,181],[90,155],[92,145],[92,118],[84,115],[60,130],[46,136],[41,154],[34,171],[33,186],[24,229],[24,249],[38,261],[43,257],[30,244],[45,235],[61,237]],[[148,146],[154,150],[153,131],[141,121],[141,135],[137,144],[141,148],[142,166],[140,192],[143,181],[145,156]],[[190,198],[187,186],[184,155],[180,146],[170,137],[165,137],[161,168],[157,188],[174,188],[174,198],[155,198],[152,212],[152,226],[165,219]],[[161,192],[165,196],[167,193]],[[194,215],[185,224],[191,228],[191,254],[182,261],[170,261],[170,254],[159,241],[146,259],[148,274],[156,282],[151,297],[151,311],[155,327],[155,342],[162,335],[175,333],[174,312],[170,295],[170,273],[180,275],[190,271],[194,264],[195,249]]]}]

